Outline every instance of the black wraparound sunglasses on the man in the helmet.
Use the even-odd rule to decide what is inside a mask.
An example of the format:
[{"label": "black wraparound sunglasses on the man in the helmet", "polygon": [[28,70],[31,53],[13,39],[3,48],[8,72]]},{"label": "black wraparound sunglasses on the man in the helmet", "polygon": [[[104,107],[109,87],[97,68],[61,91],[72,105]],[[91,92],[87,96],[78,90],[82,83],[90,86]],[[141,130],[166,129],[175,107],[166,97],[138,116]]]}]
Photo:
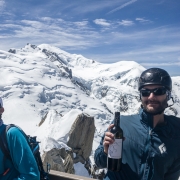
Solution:
[{"label": "black wraparound sunglasses on the man in the helmet", "polygon": [[167,89],[165,87],[159,87],[155,89],[141,89],[140,93],[143,97],[148,97],[151,93],[153,93],[155,96],[161,96],[166,94]]}]

